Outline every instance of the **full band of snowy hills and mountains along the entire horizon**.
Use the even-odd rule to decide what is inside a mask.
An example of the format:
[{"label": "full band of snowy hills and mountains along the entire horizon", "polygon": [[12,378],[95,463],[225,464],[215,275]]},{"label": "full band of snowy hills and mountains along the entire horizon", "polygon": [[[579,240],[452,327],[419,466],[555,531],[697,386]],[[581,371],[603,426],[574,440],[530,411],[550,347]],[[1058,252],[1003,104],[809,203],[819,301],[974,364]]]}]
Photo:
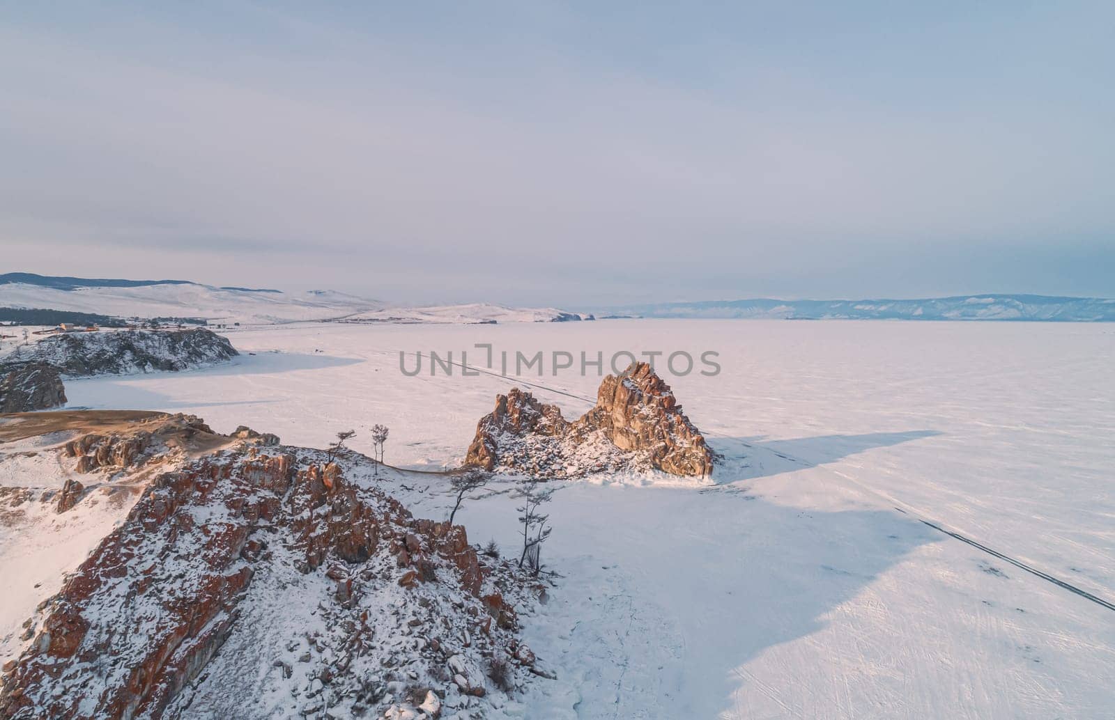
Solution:
[{"label": "full band of snowy hills and mountains along the entire horizon", "polygon": [[[198,318],[274,323],[330,320],[361,323],[491,323],[590,320],[556,308],[493,303],[405,307],[332,290],[214,286],[188,280],[113,280],[0,274],[0,309],[61,310],[117,318]],[[709,300],[593,309],[597,318],[774,320],[999,320],[1115,322],[1115,300],[981,294],[921,300]]]}]

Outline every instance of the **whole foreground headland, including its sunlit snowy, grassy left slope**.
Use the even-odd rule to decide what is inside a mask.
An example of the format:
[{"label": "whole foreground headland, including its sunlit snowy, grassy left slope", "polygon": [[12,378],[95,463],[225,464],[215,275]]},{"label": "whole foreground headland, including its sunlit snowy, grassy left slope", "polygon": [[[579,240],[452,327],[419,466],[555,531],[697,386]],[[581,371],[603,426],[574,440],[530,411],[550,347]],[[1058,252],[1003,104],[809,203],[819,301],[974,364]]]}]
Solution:
[{"label": "whole foreground headland, including its sunlit snowy, grassy left slope", "polygon": [[518,633],[544,578],[380,483],[414,474],[182,415],[0,440],[7,718],[521,717],[552,677]]}]

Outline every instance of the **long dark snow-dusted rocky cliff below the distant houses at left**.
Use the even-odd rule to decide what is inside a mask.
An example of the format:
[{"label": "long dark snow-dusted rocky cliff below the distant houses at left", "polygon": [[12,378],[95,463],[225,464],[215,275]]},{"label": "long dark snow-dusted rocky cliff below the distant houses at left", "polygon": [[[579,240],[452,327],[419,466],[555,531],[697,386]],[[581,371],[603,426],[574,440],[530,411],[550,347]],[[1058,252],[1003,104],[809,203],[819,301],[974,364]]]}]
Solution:
[{"label": "long dark snow-dusted rocky cliff below the distant houses at left", "polygon": [[70,377],[187,370],[240,354],[227,338],[193,330],[115,330],[49,335],[21,356]]}]

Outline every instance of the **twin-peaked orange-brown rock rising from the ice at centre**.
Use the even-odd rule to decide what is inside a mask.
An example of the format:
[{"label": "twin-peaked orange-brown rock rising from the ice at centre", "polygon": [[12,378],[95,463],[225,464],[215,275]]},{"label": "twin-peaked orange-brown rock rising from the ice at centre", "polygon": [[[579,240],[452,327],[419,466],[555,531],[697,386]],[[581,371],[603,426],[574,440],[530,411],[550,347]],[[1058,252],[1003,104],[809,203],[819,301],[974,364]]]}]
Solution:
[{"label": "twin-peaked orange-brown rock rising from the ice at centre", "polygon": [[600,383],[597,405],[570,422],[556,406],[512,388],[496,396],[465,457],[487,470],[541,478],[621,469],[708,476],[715,454],[681,412],[673,392],[644,362]]}]

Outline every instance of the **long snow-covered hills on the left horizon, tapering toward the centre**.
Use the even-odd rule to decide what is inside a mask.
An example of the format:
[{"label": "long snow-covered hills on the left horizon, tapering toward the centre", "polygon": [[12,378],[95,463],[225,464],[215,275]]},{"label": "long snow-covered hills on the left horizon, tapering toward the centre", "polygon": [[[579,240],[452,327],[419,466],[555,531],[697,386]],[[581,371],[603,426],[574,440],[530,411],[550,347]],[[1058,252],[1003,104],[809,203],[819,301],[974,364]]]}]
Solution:
[{"label": "long snow-covered hills on the left horizon, tapering toward the centre", "polygon": [[399,308],[333,290],[302,293],[217,288],[185,280],[89,280],[32,273],[0,275],[0,308],[49,309],[118,318],[200,318],[211,323],[271,324],[348,322],[551,322],[581,320],[556,309],[515,309],[488,303]]}]

